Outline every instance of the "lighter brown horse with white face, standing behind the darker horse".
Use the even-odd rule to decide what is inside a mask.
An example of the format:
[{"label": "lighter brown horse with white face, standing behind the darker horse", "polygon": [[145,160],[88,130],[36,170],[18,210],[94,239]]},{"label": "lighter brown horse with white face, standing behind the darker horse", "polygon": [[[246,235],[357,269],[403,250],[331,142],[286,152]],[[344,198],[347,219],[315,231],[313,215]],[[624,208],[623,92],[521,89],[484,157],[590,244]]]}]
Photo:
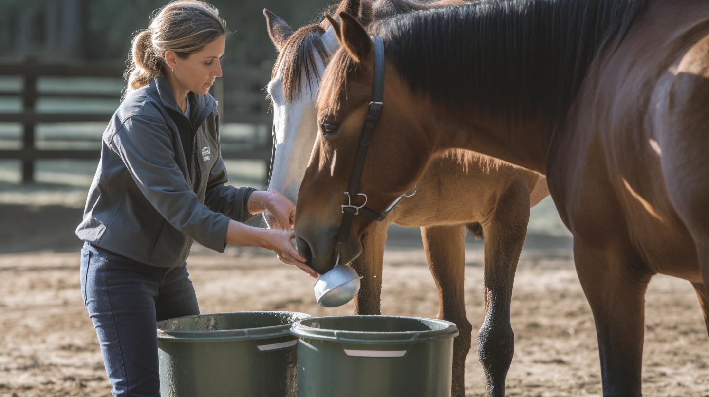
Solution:
[{"label": "lighter brown horse with white face, standing behind the darker horse", "polygon": [[[407,5],[425,8],[418,2],[385,0],[375,4],[363,2],[362,9],[359,12],[355,9],[354,13],[376,20],[392,13],[386,9],[392,5],[398,5],[390,7],[398,13],[409,11]],[[436,5],[441,4],[433,6]],[[354,7],[359,8],[357,1],[344,1],[340,8]],[[339,44],[332,27],[306,26],[293,32],[280,18],[268,11],[266,15],[269,34],[281,53],[274,66],[274,79],[268,86],[276,143],[269,189],[277,189],[296,202],[318,130],[315,93],[325,69],[323,55],[334,54]],[[312,54],[308,58],[310,68],[305,66],[306,54]],[[298,63],[301,65],[291,67]],[[301,76],[300,84],[293,83],[292,74]],[[438,316],[456,323],[460,331],[454,342],[453,395],[464,396],[464,365],[472,330],[465,314],[463,289],[468,225],[476,235],[485,237],[486,319],[479,332],[479,355],[491,394],[503,396],[513,354],[509,316],[515,269],[525,240],[530,206],[548,194],[542,175],[474,152],[454,150],[434,160],[418,181],[418,192],[404,198],[386,220],[377,223],[364,237],[362,254],[351,263],[364,277],[355,312],[381,313],[381,274],[389,224],[420,227],[438,287]],[[332,267],[333,263],[329,265]],[[328,269],[316,267],[320,273]]]}]

